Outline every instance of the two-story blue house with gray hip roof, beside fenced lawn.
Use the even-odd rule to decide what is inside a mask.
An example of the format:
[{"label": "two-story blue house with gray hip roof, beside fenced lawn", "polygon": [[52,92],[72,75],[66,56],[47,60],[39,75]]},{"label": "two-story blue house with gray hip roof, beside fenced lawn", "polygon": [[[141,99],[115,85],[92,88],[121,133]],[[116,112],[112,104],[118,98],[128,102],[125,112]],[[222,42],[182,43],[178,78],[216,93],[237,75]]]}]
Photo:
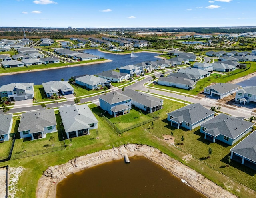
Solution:
[{"label": "two-story blue house with gray hip roof, beside fenced lawn", "polygon": [[114,93],[101,95],[99,96],[99,99],[100,108],[114,117],[124,115],[125,113],[130,113],[132,99],[126,95],[116,91]]}]

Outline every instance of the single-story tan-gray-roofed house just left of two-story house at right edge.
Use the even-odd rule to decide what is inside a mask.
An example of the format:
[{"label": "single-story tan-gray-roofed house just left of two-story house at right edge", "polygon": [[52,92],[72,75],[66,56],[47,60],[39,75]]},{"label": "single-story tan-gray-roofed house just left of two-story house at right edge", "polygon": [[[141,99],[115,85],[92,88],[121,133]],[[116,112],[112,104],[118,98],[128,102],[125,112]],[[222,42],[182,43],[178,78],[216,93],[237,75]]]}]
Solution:
[{"label": "single-story tan-gray-roofed house just left of two-story house at right edge", "polygon": [[217,83],[204,88],[204,93],[210,94],[210,96],[217,96],[218,99],[222,99],[235,93],[242,86],[231,83]]}]

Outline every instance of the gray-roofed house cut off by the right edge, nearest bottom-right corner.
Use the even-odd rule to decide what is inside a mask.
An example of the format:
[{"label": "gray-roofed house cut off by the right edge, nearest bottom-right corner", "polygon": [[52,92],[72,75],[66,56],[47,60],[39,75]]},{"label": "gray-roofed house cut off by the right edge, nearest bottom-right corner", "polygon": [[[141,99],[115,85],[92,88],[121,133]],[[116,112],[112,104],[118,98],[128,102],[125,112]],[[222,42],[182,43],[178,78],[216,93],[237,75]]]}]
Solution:
[{"label": "gray-roofed house cut off by the right edge, nearest bottom-right corner", "polygon": [[256,131],[231,148],[230,152],[230,159],[256,170]]}]

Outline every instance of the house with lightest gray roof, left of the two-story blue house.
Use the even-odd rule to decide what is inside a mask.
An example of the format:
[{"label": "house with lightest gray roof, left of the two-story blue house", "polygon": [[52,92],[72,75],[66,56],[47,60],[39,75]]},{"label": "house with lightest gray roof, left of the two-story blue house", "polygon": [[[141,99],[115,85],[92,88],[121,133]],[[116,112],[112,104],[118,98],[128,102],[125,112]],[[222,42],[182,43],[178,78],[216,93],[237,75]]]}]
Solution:
[{"label": "house with lightest gray roof, left of the two-story blue house", "polygon": [[90,129],[98,128],[98,120],[86,104],[63,105],[59,111],[68,139],[88,135]]}]

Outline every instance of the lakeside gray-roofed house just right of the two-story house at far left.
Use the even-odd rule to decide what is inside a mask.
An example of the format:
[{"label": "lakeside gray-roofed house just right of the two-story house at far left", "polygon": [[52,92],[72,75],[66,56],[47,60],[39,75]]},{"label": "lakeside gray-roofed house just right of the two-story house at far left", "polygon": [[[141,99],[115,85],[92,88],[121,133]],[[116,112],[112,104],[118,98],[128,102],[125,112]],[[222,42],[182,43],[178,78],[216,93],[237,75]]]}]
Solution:
[{"label": "lakeside gray-roofed house just right of the two-story house at far left", "polygon": [[56,95],[69,95],[74,93],[74,88],[67,81],[50,81],[42,83],[47,97]]}]

